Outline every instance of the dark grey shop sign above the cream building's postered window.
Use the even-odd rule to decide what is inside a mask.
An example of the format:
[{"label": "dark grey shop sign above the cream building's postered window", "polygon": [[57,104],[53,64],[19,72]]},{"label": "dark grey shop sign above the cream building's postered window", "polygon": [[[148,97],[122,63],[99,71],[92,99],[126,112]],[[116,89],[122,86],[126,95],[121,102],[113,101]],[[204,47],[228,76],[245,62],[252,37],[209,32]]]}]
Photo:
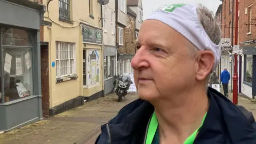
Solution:
[{"label": "dark grey shop sign above the cream building's postered window", "polygon": [[102,44],[102,30],[82,25],[83,42]]}]

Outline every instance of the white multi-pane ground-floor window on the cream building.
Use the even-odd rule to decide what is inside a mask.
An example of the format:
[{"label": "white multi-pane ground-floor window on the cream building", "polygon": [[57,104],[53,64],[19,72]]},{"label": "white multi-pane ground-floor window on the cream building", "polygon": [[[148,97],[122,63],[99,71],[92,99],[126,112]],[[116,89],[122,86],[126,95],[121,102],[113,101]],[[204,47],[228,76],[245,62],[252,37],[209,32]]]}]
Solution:
[{"label": "white multi-pane ground-floor window on the cream building", "polygon": [[[63,45],[61,45],[63,44]],[[67,46],[67,49],[64,48],[61,49],[61,46]],[[67,42],[56,42],[56,78],[61,78],[69,75],[75,75],[76,74],[76,62],[75,62],[75,43],[67,43]],[[64,52],[64,53],[62,53]],[[65,55],[67,52],[68,54]],[[62,56],[61,56],[62,54]],[[66,57],[67,58],[63,58]],[[63,74],[61,75],[61,68],[65,68],[65,66],[61,67],[61,61],[67,60],[67,73],[63,71]],[[73,63],[71,62],[73,60]],[[73,71],[74,73],[71,73]]]}]

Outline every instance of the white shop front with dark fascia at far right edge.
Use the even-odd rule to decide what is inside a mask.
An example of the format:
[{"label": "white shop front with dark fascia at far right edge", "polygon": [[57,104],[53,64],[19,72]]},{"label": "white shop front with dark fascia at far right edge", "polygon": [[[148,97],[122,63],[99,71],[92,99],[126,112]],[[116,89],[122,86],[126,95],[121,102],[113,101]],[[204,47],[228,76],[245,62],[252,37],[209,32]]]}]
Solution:
[{"label": "white shop front with dark fascia at far right edge", "polygon": [[256,44],[243,45],[242,95],[254,99],[256,95]]}]

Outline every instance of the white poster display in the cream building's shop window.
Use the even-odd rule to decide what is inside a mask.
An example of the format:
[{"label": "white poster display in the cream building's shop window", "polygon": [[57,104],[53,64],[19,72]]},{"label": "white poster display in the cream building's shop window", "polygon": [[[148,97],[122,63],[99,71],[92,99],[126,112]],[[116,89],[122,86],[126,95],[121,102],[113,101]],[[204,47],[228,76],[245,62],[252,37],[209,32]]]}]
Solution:
[{"label": "white poster display in the cream building's shop window", "polygon": [[93,85],[100,81],[100,58],[98,50],[88,50],[87,56],[87,84]]}]

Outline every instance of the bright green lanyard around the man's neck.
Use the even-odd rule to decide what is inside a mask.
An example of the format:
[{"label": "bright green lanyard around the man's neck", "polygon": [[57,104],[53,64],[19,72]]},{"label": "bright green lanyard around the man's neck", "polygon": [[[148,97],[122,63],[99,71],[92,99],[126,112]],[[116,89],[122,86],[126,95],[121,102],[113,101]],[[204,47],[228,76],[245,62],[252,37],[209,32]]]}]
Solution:
[{"label": "bright green lanyard around the man's neck", "polygon": [[[201,126],[185,140],[184,144],[193,144],[193,142],[196,139],[197,132],[199,131],[199,129],[202,127],[202,125],[204,123],[206,115],[207,115],[207,113],[204,115]],[[152,141],[155,137],[157,126],[158,126],[158,121],[157,121],[157,117],[156,117],[156,114],[155,114],[155,111],[154,111],[153,116],[151,117],[150,122],[149,122],[149,126],[148,126],[146,144],[151,144],[152,143]]]}]

